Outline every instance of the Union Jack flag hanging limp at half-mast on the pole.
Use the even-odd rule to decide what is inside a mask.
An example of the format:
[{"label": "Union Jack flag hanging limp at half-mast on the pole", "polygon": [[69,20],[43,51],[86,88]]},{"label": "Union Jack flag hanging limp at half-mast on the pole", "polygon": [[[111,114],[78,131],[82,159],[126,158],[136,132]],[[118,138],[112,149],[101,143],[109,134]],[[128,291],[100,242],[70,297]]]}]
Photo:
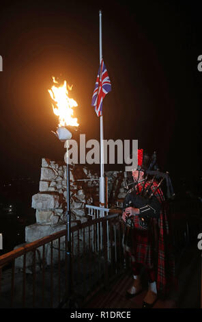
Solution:
[{"label": "Union Jack flag hanging limp at half-mast on the pole", "polygon": [[96,114],[98,116],[102,115],[102,101],[105,95],[111,91],[111,82],[109,75],[106,71],[106,66],[104,61],[101,61],[100,68],[98,71],[98,76],[96,79],[96,87],[93,91],[91,106],[95,107]]}]

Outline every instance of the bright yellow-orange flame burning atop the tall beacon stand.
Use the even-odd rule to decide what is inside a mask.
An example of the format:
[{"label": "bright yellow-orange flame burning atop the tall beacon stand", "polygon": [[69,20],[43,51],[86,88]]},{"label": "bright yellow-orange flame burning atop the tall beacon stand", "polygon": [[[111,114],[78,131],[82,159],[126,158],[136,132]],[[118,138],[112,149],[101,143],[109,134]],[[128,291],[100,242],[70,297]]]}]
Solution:
[{"label": "bright yellow-orange flame burning atop the tall beacon stand", "polygon": [[[53,77],[53,82],[55,84],[58,84],[58,82],[56,82],[55,80],[55,77]],[[76,106],[78,106],[78,104],[76,103],[76,101],[74,101],[74,99],[70,99],[70,97],[68,97],[68,90],[72,90],[72,86],[68,86],[67,88],[66,80],[63,82],[63,85],[53,85],[51,89],[48,90],[51,98],[53,99],[53,101],[55,101],[55,103],[52,104],[52,107],[54,114],[59,116],[58,127],[65,127],[66,125],[79,125],[77,119],[75,117],[72,117],[74,114],[72,108],[75,108]]]}]

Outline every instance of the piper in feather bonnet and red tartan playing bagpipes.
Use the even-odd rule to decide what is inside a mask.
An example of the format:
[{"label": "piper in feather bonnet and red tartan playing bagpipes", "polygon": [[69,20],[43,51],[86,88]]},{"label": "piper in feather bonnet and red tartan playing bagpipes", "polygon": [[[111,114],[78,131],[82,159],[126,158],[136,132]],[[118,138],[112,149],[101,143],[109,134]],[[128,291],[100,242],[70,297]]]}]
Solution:
[{"label": "piper in feather bonnet and red tartan playing bagpipes", "polygon": [[[124,251],[130,256],[133,282],[126,297],[134,297],[143,290],[141,269],[148,276],[148,291],[143,308],[152,308],[161,295],[166,295],[170,282],[174,281],[175,265],[169,241],[169,223],[164,208],[164,195],[160,188],[167,181],[168,197],[173,195],[168,173],[156,170],[156,153],[148,166],[149,157],[138,150],[138,167],[132,171],[134,188],[124,199],[122,219],[126,224]],[[152,170],[154,166],[155,170]],[[146,177],[144,178],[144,176]],[[154,175],[150,180],[148,175]],[[158,183],[156,179],[160,178]]]}]

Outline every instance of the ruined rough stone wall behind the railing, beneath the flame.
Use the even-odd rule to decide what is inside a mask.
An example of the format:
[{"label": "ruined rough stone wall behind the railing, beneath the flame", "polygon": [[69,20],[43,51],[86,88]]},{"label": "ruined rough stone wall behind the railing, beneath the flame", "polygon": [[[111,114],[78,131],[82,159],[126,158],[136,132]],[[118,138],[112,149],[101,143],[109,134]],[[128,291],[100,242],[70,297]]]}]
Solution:
[{"label": "ruined rough stone wall behind the railing, beneath the flame", "polygon": [[[105,173],[108,178],[108,197],[111,204],[124,198],[124,173],[109,171]],[[67,173],[66,164],[42,158],[42,167],[39,183],[39,192],[32,197],[31,207],[35,209],[35,223],[25,227],[25,243],[51,235],[66,229],[66,203],[67,203]],[[70,165],[70,209],[72,214],[71,226],[78,220],[84,223],[89,218],[86,204],[99,206],[99,175],[88,169],[87,166]],[[54,245],[56,245],[55,240]],[[64,238],[61,248],[65,248]],[[82,240],[81,240],[82,244]],[[25,245],[25,244],[23,244]],[[15,248],[20,247],[18,245]],[[76,245],[74,245],[74,250]],[[80,250],[81,251],[81,250]],[[53,258],[57,260],[57,251]],[[46,245],[46,264],[50,264],[50,246]],[[16,262],[16,268],[22,269],[23,258]],[[29,271],[29,268],[27,268]]]}]

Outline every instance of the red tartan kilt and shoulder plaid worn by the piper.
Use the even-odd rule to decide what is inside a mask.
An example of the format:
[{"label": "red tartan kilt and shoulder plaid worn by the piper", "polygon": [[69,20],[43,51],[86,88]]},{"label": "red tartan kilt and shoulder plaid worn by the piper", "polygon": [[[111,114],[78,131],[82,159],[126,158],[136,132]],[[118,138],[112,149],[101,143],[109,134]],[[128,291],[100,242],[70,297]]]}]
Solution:
[{"label": "red tartan kilt and shoulder plaid worn by the piper", "polygon": [[[145,189],[149,184],[151,184],[150,181],[146,182]],[[141,193],[143,185],[143,182],[137,185],[137,194]],[[156,182],[153,182],[151,190],[154,191],[157,185]],[[152,228],[149,231],[133,230],[132,247],[128,251],[135,262],[139,262],[149,269],[156,269],[158,294],[165,295],[169,290],[169,286],[175,283],[175,260],[171,249],[169,221],[164,207],[164,195],[160,188],[156,190],[154,195],[162,205],[159,219],[152,219]],[[154,258],[154,251],[156,252],[156,258]]]}]

